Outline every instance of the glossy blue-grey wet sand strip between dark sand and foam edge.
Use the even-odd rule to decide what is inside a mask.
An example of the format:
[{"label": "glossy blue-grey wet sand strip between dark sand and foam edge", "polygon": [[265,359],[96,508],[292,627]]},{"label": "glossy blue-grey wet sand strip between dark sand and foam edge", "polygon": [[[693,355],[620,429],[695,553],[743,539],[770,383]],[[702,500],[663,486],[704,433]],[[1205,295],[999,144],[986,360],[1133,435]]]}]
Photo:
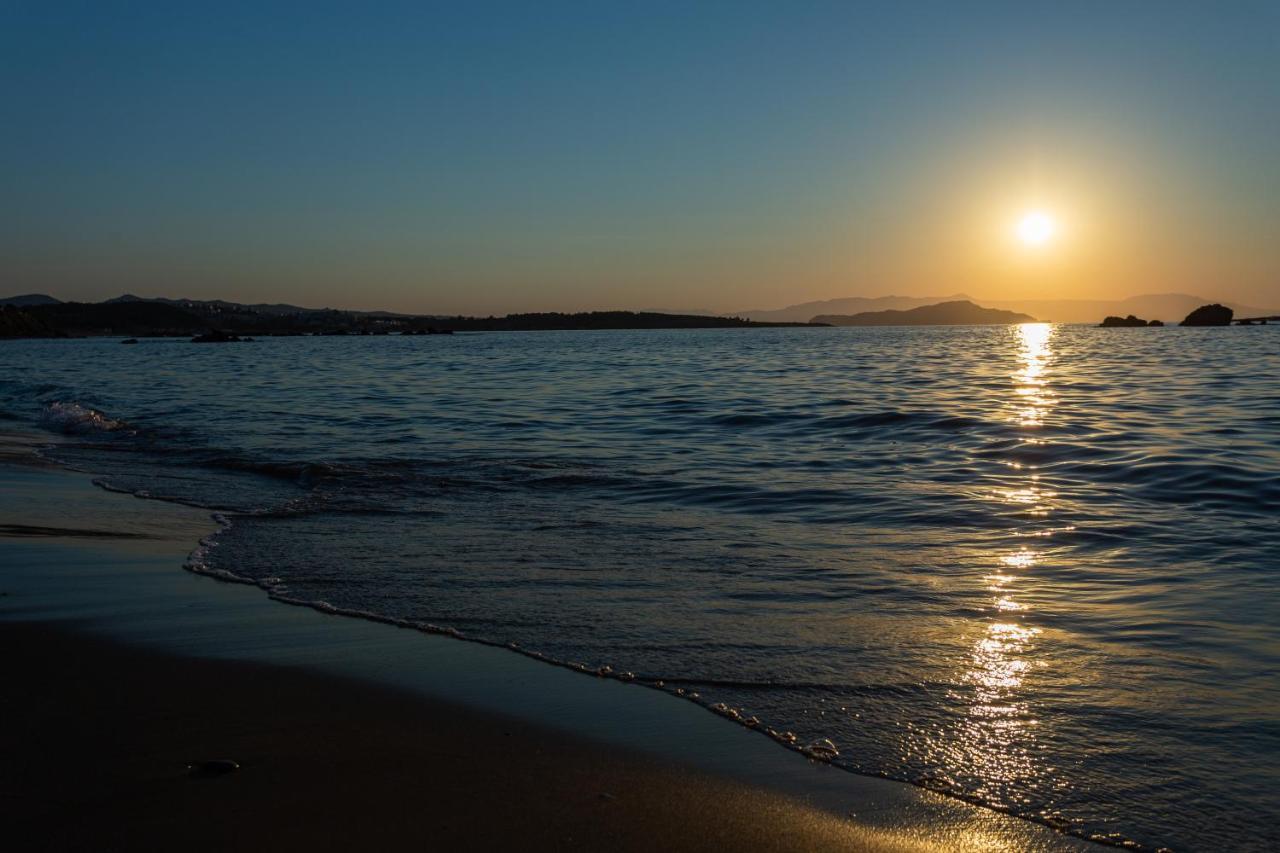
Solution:
[{"label": "glossy blue-grey wet sand strip between dark sand and foam edge", "polygon": [[[570,669],[538,666],[539,661],[509,654],[504,647],[457,642],[420,630],[397,631],[367,620],[326,617],[312,607],[280,607],[257,587],[175,571],[195,543],[215,529],[207,511],[156,501],[138,503],[138,498],[92,485],[83,474],[52,465],[17,466],[12,453],[9,462],[0,461],[0,476],[6,492],[15,496],[15,505],[18,496],[23,498],[22,508],[15,507],[19,525],[46,529],[41,535],[0,533],[0,553],[5,553],[5,565],[13,566],[3,580],[8,593],[0,598],[3,622],[41,622],[41,630],[55,631],[63,630],[58,625],[70,624],[77,639],[68,643],[92,646],[86,637],[102,637],[111,648],[123,649],[120,654],[169,656],[193,666],[278,667],[282,678],[296,674],[316,679],[343,695],[381,697],[379,690],[401,690],[406,701],[452,708],[439,712],[445,719],[479,712],[518,720],[518,725],[554,733],[562,744],[558,749],[626,756],[618,761],[627,767],[631,761],[639,762],[636,767],[654,762],[668,774],[662,783],[666,790],[684,790],[677,777],[690,772],[710,780],[705,785],[730,785],[718,789],[724,795],[717,795],[716,802],[769,803],[764,811],[781,815],[777,821],[796,833],[835,833],[820,838],[841,847],[1097,849],[1039,824],[905,783],[809,762],[794,751],[778,749],[767,738],[751,736],[758,733],[724,725],[727,721],[707,708],[677,702],[659,690],[634,690],[630,688],[635,685],[616,679],[584,679]],[[54,517],[51,507],[58,507]],[[140,512],[140,507],[146,511]],[[49,523],[37,524],[42,514]],[[76,517],[76,523],[68,525],[68,517]],[[47,533],[60,525],[61,534]],[[92,535],[104,530],[125,535]],[[45,685],[52,686],[54,681]],[[366,704],[380,701],[371,698]],[[468,744],[483,744],[492,734],[490,725],[458,736]],[[370,781],[376,781],[380,772],[362,771]],[[504,770],[485,772],[500,776]],[[558,775],[548,768],[544,783]],[[705,785],[703,790],[710,790]],[[730,790],[732,795],[726,794]],[[682,797],[690,799],[692,794]],[[676,804],[672,800],[671,807]],[[646,815],[644,820],[636,817],[639,822],[627,833],[675,821],[685,824],[685,833],[698,834],[727,820],[680,809]],[[548,820],[553,824],[559,818]],[[566,826],[573,820],[590,824],[585,815],[566,820]],[[732,820],[740,827],[750,824],[746,815]],[[621,825],[614,831],[622,831]],[[758,847],[759,831],[741,838],[750,838]],[[525,840],[524,835],[518,838]],[[611,844],[617,845],[620,838],[611,836]],[[628,838],[636,844],[644,840],[643,835]],[[646,845],[653,843],[650,839]],[[666,840],[660,843],[667,845]]]}]

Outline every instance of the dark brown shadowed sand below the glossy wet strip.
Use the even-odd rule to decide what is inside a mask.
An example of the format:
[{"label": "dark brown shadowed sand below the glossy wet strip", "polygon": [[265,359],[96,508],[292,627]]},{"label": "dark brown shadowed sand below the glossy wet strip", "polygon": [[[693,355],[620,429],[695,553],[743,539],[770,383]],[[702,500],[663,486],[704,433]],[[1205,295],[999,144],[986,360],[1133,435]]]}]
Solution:
[{"label": "dark brown shadowed sand below the glossy wet strip", "polygon": [[[9,849],[914,849],[771,792],[399,690],[65,626],[4,624],[0,638]],[[241,767],[187,770],[219,758]]]}]

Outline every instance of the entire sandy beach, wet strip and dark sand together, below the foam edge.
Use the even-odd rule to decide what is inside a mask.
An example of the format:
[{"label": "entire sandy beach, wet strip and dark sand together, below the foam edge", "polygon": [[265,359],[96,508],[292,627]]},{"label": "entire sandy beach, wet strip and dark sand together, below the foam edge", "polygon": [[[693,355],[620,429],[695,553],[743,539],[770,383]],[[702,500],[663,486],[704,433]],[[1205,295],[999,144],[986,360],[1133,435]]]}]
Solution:
[{"label": "entire sandy beach, wet strip and dark sand together, below the foam edge", "polygon": [[[8,453],[8,461],[0,462],[5,492],[13,496],[13,508],[6,507],[8,526],[0,535],[0,555],[8,566],[0,621],[18,622],[3,629],[10,648],[20,640],[24,652],[38,653],[32,652],[23,663],[27,698],[10,704],[17,702],[18,710],[31,711],[24,719],[35,731],[47,731],[56,717],[35,713],[40,701],[61,707],[70,698],[65,690],[77,685],[93,679],[124,684],[129,672],[151,672],[137,675],[143,679],[136,683],[142,685],[137,690],[90,690],[79,694],[76,706],[83,710],[83,703],[91,703],[87,716],[95,720],[100,713],[114,713],[106,715],[113,720],[106,729],[113,733],[110,740],[128,742],[143,734],[138,712],[160,707],[152,704],[155,694],[146,695],[145,685],[163,680],[165,702],[173,702],[165,719],[178,726],[174,736],[191,743],[188,752],[197,745],[219,745],[216,739],[196,744],[189,729],[182,727],[198,722],[209,735],[241,738],[224,743],[269,748],[273,772],[280,774],[266,789],[255,788],[266,784],[262,781],[242,784],[252,776],[246,758],[243,771],[228,779],[191,785],[184,768],[175,760],[168,761],[164,774],[147,777],[151,788],[146,795],[138,788],[137,797],[122,793],[110,798],[116,808],[148,812],[137,815],[142,822],[129,824],[140,833],[165,826],[165,831],[182,826],[193,833],[189,824],[163,826],[163,821],[148,817],[155,803],[169,803],[175,797],[186,797],[186,804],[165,804],[160,811],[177,815],[191,808],[193,816],[186,820],[223,826],[239,825],[242,812],[248,809],[261,812],[256,820],[264,821],[252,838],[266,839],[284,827],[292,833],[306,821],[288,815],[288,809],[250,808],[248,803],[264,797],[279,803],[288,792],[297,790],[293,802],[300,808],[317,811],[329,821],[317,820],[316,829],[306,830],[316,833],[311,847],[323,847],[326,838],[338,848],[349,847],[356,834],[366,833],[372,839],[389,824],[410,834],[396,838],[430,833],[433,840],[472,847],[502,839],[521,847],[557,847],[572,838],[573,844],[595,845],[590,839],[596,839],[623,849],[1093,848],[1044,826],[910,785],[812,763],[756,733],[727,725],[701,707],[655,690],[584,678],[502,648],[282,607],[255,587],[179,571],[197,540],[215,528],[206,511],[106,493],[81,474],[15,464],[15,456],[22,455],[19,444],[13,446],[18,450]],[[77,666],[84,678],[61,678]],[[165,671],[182,672],[191,681],[178,689],[180,679],[161,679],[159,674]],[[49,675],[47,680],[41,680],[42,674]],[[269,688],[285,683],[294,690],[289,698],[274,697]],[[201,689],[211,693],[201,694]],[[317,702],[316,697],[334,701]],[[246,711],[216,713],[220,702]],[[288,713],[280,713],[280,702]],[[333,735],[342,730],[335,724],[338,717],[326,716],[339,707],[347,708],[343,719],[358,721],[346,740]],[[431,724],[411,726],[410,720]],[[516,730],[524,734],[508,743]],[[262,731],[273,733],[271,738],[255,742],[255,733]],[[24,738],[12,748],[20,752],[37,742]],[[367,757],[374,742],[383,763]],[[169,753],[155,744],[148,748],[157,754],[177,754],[173,749],[178,747],[172,744],[166,747]],[[328,757],[329,763],[320,767],[308,749]],[[548,760],[550,752],[554,757]],[[76,754],[83,756],[83,749]],[[442,760],[443,767],[433,767],[436,758],[425,758],[440,754],[452,757],[454,765]],[[419,758],[406,763],[404,756]],[[236,754],[200,757],[238,760]],[[50,790],[79,784],[77,780],[92,776],[86,776],[86,768],[97,767],[88,756],[47,763],[45,784]],[[128,761],[106,762],[113,772],[129,766]],[[344,770],[339,772],[339,767]],[[442,775],[449,779],[447,795],[439,793]],[[140,779],[133,781],[141,784]],[[396,815],[413,812],[416,817],[393,820],[388,817],[392,812],[371,807],[364,817],[348,813],[343,818],[347,822],[334,824],[338,817],[330,813],[343,811],[337,792],[372,792],[392,780],[396,792],[408,797],[404,792],[411,790],[416,799],[410,803],[383,797],[379,802],[399,802]],[[419,780],[435,780],[434,788],[425,781],[416,788]],[[236,800],[225,808],[210,808],[216,803],[205,792],[214,784],[223,788],[224,781],[257,793],[241,804]],[[314,789],[310,794],[305,793],[307,785]],[[113,789],[129,790],[119,785]],[[550,792],[559,795],[545,798]],[[584,802],[586,794],[595,800]],[[234,800],[236,795],[228,797]],[[20,800],[6,802],[15,806]],[[424,802],[439,811],[433,812]],[[600,803],[608,809],[602,811]],[[120,813],[100,815],[97,829]],[[458,817],[460,835],[440,829],[448,825],[436,820],[442,815]],[[465,830],[468,821],[472,829]],[[476,835],[477,825],[483,825],[483,833],[507,835]],[[320,829],[325,826],[329,829]],[[543,831],[548,835],[539,835]],[[163,834],[150,838],[160,839]],[[342,844],[340,838],[348,843]],[[145,849],[145,844],[124,847]]]}]

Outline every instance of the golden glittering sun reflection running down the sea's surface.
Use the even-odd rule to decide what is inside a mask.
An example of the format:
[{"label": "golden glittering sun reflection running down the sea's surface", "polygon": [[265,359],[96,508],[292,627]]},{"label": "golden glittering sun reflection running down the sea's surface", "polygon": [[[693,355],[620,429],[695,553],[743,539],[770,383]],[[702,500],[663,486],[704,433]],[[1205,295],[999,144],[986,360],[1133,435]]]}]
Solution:
[{"label": "golden glittering sun reflection running down the sea's surface", "polygon": [[[1010,419],[1027,428],[1024,442],[1039,443],[1036,428],[1044,424],[1055,405],[1048,382],[1053,327],[1024,324],[1012,327],[1011,333],[1018,368],[1011,374]],[[1016,507],[1023,517],[1047,517],[1055,494],[1041,487],[1034,470],[1018,465],[1014,470],[1019,471],[1020,482],[996,489],[993,500]],[[1014,533],[1025,535],[1023,530]],[[1025,804],[1029,798],[1019,790],[1052,771],[1037,757],[1038,721],[1023,690],[1024,680],[1038,665],[1042,631],[1024,624],[1029,606],[1018,593],[1020,581],[1034,571],[1038,561],[1037,551],[1025,544],[989,557],[991,571],[982,581],[991,596],[991,615],[956,676],[961,689],[954,698],[965,707],[964,716],[950,743],[941,744],[956,770],[982,780],[972,793],[996,807]]]}]

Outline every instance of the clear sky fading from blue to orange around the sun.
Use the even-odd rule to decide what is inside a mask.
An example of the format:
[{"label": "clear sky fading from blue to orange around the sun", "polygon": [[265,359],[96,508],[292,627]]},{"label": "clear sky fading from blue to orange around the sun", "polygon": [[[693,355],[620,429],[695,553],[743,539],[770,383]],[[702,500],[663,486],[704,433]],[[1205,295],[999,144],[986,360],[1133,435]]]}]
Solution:
[{"label": "clear sky fading from blue to orange around the sun", "polygon": [[1280,307],[1275,0],[0,0],[0,295]]}]

